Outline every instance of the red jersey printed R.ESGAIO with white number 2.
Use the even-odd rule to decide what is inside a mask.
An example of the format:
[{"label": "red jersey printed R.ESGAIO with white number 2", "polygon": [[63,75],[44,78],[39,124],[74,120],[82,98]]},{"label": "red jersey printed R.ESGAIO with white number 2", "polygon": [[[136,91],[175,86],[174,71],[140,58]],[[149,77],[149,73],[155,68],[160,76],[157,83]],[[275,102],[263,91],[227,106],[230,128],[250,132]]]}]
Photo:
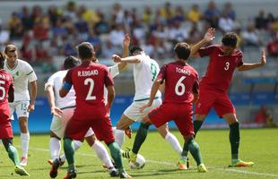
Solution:
[{"label": "red jersey printed R.ESGAIO with white number 2", "polygon": [[65,82],[72,84],[76,96],[76,108],[104,107],[104,85],[114,85],[107,66],[85,61],[70,69]]}]

